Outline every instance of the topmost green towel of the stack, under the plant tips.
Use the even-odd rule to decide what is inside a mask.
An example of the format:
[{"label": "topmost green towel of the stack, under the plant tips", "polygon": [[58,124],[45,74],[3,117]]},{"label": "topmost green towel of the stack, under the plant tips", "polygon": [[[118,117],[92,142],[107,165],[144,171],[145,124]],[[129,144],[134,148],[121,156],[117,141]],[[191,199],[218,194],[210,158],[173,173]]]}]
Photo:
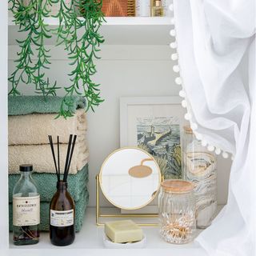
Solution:
[{"label": "topmost green towel of the stack, under the plant tips", "polygon": [[[67,100],[74,102],[71,111],[86,107],[86,99],[81,96],[71,96]],[[8,114],[22,115],[33,113],[58,113],[61,107],[62,98],[57,96],[9,96]]]}]

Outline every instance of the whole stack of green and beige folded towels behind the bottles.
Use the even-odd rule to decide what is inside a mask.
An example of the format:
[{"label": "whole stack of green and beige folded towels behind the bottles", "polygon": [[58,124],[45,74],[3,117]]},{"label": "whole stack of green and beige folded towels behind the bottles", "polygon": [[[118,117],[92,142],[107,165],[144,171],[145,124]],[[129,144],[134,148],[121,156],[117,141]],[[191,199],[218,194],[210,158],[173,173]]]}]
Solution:
[{"label": "whole stack of green and beige folded towels behind the bottles", "polygon": [[[56,142],[60,138],[60,163],[63,173],[70,134],[77,134],[77,142],[70,166],[68,190],[75,202],[75,230],[79,231],[88,203],[88,148],[86,143],[86,102],[73,97],[74,117],[55,119],[62,98],[41,96],[9,97],[9,206],[12,229],[12,190],[19,178],[19,165],[34,166],[33,178],[41,196],[40,230],[49,230],[50,200],[56,192],[57,177],[49,146],[48,135]],[[55,147],[56,149],[56,147]]]}]

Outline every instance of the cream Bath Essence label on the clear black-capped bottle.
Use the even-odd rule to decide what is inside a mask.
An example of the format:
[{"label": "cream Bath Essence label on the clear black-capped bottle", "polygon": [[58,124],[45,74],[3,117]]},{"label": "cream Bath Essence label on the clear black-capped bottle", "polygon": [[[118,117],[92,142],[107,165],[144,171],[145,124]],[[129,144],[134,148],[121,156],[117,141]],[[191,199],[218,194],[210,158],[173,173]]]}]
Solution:
[{"label": "cream Bath Essence label on the clear black-capped bottle", "polygon": [[14,226],[34,226],[40,223],[40,195],[13,197]]}]

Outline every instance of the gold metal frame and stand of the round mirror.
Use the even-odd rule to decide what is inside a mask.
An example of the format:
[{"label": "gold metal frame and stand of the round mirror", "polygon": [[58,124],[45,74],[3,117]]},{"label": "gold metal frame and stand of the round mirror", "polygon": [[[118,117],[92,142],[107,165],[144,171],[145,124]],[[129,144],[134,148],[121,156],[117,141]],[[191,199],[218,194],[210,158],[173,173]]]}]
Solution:
[{"label": "gold metal frame and stand of the round mirror", "polygon": [[[158,190],[156,190],[152,196],[152,198],[150,199],[149,202],[146,202],[145,205],[140,206],[138,208],[132,208],[132,209],[127,209],[127,208],[122,208],[121,206],[116,205],[114,202],[112,202],[109,198],[107,198],[106,194],[104,194],[104,191],[102,190],[102,169],[104,164],[106,163],[106,161],[110,158],[110,156],[112,156],[113,154],[115,154],[118,151],[121,150],[126,150],[126,149],[134,149],[134,150],[140,150],[142,152],[144,152],[145,154],[148,155],[148,158],[152,159],[155,163],[155,165],[157,166],[157,170],[158,170]],[[122,147],[118,150],[114,150],[114,152],[112,152],[110,155],[108,155],[108,157],[105,159],[105,161],[102,163],[102,167],[100,170],[100,173],[96,175],[96,224],[98,226],[102,226],[104,225],[104,223],[100,222],[99,219],[100,218],[157,218],[158,214],[101,214],[100,211],[100,206],[99,206],[99,197],[100,197],[100,190],[102,190],[102,194],[104,195],[104,197],[113,205],[118,207],[119,209],[126,209],[126,210],[136,210],[136,209],[141,209],[144,206],[147,206],[150,202],[152,202],[154,200],[154,198],[156,197],[156,195],[158,194],[158,191],[160,189],[161,186],[161,182],[163,180],[162,174],[161,174],[161,170],[160,167],[158,166],[158,163],[155,161],[154,157],[152,155],[150,155],[148,152],[146,152],[145,150],[142,150],[138,147]],[[158,223],[138,223],[138,225],[140,226],[158,226]]]}]

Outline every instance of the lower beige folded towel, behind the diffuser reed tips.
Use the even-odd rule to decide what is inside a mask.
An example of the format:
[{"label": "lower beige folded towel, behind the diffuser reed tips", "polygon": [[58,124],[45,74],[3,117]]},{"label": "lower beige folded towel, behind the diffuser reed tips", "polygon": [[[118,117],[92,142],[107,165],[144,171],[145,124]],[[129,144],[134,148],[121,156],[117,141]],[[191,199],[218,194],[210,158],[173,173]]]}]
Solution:
[{"label": "lower beige folded towel, behind the diffuser reed tips", "polygon": [[[54,160],[50,145],[18,145],[9,146],[9,174],[18,174],[19,165],[30,163],[38,173],[54,173]],[[54,145],[57,158],[57,145]],[[66,161],[67,144],[60,145],[60,166],[63,173]],[[78,142],[74,147],[74,154],[70,165],[70,174],[77,174],[78,170],[88,162],[86,142]],[[57,161],[57,159],[56,159]]]}]

